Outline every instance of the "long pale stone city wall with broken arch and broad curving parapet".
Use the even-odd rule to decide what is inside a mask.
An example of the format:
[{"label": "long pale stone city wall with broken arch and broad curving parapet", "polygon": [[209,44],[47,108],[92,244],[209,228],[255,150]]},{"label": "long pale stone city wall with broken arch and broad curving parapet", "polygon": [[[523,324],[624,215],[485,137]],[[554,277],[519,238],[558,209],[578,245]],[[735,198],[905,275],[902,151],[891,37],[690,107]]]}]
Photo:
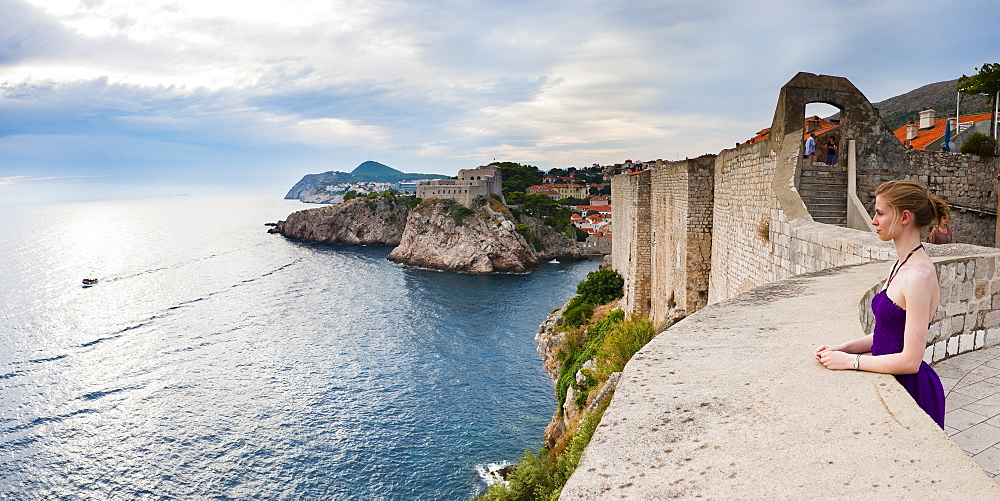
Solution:
[{"label": "long pale stone city wall with broken arch and broad curving parapet", "polygon": [[[840,109],[838,165],[803,163],[808,103]],[[925,360],[1000,345],[998,173],[996,158],[905,149],[847,79],[799,73],[768,139],[615,176],[622,305],[679,321],[622,372],[561,499],[1000,499],[891,376],[812,356],[871,332],[896,256],[866,208],[892,179],[952,205],[963,242],[927,245],[941,300]],[[814,220],[830,198],[815,178],[842,225]]]}]

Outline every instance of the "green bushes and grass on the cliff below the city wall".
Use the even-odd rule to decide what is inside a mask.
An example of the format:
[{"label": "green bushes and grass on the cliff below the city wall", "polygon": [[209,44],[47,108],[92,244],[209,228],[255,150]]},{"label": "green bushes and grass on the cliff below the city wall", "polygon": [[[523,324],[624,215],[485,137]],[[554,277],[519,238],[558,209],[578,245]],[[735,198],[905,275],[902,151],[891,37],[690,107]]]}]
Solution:
[{"label": "green bushes and grass on the cliff below the city wall", "polygon": [[[556,355],[560,362],[556,380],[559,410],[553,418],[559,420],[560,436],[537,454],[525,451],[506,483],[493,484],[480,500],[559,497],[610,401],[602,398],[610,395],[606,391],[609,381],[656,335],[648,319],[626,316],[622,310],[613,309],[614,302],[622,296],[623,284],[618,272],[601,269],[587,275],[577,286],[577,296],[563,308],[563,317],[556,327],[563,336]],[[572,311],[570,304],[589,308],[591,322],[570,325],[567,322]],[[567,408],[576,409],[574,417],[565,415]]]}]

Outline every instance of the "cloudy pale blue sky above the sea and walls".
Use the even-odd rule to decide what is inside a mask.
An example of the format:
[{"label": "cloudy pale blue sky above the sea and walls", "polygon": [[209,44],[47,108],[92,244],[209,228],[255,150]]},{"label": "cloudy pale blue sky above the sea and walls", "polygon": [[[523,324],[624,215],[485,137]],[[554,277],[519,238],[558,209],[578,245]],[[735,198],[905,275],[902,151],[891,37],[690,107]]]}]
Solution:
[{"label": "cloudy pale blue sky above the sea and walls", "polygon": [[0,0],[0,204],[283,196],[366,160],[454,175],[717,153],[770,126],[800,71],[872,102],[971,75],[1000,56],[997,13],[995,0]]}]

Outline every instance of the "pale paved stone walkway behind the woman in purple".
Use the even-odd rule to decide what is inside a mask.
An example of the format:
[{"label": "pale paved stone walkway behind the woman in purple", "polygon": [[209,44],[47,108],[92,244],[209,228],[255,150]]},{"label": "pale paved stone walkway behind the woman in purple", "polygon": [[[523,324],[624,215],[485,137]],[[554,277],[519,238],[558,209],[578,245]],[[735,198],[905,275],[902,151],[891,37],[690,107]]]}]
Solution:
[{"label": "pale paved stone walkway behind the woman in purple", "polygon": [[934,364],[946,398],[945,431],[1000,482],[1000,347]]}]

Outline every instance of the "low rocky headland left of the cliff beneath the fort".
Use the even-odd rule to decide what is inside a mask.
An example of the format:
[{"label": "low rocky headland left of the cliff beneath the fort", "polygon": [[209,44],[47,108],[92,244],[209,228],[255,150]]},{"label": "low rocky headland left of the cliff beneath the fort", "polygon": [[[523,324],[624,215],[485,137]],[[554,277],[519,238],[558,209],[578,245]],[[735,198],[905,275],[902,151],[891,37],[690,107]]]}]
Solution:
[{"label": "low rocky headland left of the cliff beneath the fort", "polygon": [[403,200],[355,198],[341,205],[293,212],[269,231],[308,242],[396,245],[409,210]]}]

